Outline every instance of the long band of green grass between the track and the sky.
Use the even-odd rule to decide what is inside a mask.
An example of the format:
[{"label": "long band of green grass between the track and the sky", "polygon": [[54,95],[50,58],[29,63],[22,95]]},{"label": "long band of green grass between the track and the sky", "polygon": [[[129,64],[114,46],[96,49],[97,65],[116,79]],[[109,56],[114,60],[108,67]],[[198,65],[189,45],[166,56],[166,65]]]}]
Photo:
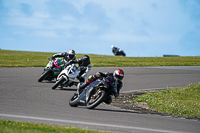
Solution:
[{"label": "long band of green grass between the track and the sky", "polygon": [[[55,53],[0,50],[0,67],[44,67]],[[83,54],[77,54],[77,59]],[[200,57],[118,57],[89,54],[93,67],[200,66]]]}]

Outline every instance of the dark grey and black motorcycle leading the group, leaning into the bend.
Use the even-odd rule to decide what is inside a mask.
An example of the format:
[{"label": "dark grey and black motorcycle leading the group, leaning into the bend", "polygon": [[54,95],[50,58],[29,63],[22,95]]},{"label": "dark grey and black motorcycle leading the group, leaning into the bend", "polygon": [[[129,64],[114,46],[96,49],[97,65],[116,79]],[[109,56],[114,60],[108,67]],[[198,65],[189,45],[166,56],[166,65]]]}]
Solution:
[{"label": "dark grey and black motorcycle leading the group, leaning into the bend", "polygon": [[75,93],[69,101],[71,107],[86,106],[88,109],[94,109],[100,103],[105,102],[113,95],[112,86],[117,81],[113,76],[107,76],[89,84],[79,95]]}]

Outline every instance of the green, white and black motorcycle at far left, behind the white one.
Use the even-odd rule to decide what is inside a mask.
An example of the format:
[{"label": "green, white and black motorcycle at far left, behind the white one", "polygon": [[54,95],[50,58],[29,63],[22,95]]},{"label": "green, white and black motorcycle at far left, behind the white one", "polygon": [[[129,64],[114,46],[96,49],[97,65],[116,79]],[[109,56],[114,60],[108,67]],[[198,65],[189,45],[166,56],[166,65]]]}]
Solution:
[{"label": "green, white and black motorcycle at far left, behind the white one", "polygon": [[64,63],[62,59],[55,58],[53,60],[50,60],[44,68],[44,72],[39,77],[38,82],[42,82],[43,80],[51,81],[54,78],[57,78],[57,76],[63,69]]}]

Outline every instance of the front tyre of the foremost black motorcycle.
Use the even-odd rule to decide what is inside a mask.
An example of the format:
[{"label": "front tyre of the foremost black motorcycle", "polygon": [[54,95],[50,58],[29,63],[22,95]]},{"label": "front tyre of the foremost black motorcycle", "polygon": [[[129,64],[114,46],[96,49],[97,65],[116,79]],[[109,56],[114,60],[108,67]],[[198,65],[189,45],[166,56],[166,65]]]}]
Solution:
[{"label": "front tyre of the foremost black motorcycle", "polygon": [[89,102],[87,103],[88,109],[93,109],[97,107],[106,97],[106,92],[104,90],[97,91],[97,95],[91,96]]}]

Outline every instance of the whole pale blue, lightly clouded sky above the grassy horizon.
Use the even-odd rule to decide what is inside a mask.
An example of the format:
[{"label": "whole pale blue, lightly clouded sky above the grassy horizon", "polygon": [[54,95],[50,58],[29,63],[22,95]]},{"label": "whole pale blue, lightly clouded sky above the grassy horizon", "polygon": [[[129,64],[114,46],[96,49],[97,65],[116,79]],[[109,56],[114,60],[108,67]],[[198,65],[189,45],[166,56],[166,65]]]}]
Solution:
[{"label": "whole pale blue, lightly clouded sky above the grassy horizon", "polygon": [[200,0],[0,0],[0,48],[200,56]]}]

